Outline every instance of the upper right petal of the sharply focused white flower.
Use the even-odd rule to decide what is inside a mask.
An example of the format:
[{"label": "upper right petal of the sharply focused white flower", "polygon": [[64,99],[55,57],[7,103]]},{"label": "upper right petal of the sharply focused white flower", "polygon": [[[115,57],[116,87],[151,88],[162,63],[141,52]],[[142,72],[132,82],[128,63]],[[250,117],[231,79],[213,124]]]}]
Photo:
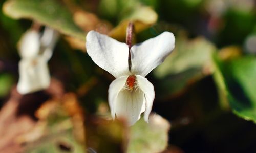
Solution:
[{"label": "upper right petal of the sharply focused white flower", "polygon": [[163,32],[131,48],[133,74],[146,76],[172,52],[175,46],[173,33]]}]

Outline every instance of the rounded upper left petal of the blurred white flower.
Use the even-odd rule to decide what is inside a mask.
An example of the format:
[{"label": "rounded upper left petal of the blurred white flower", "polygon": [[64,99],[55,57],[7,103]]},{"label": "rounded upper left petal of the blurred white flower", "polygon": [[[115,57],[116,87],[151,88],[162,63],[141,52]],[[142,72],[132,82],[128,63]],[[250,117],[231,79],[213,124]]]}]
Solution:
[{"label": "rounded upper left petal of the blurred white flower", "polygon": [[28,30],[19,40],[19,53],[22,58],[33,58],[40,50],[40,34],[34,30]]}]

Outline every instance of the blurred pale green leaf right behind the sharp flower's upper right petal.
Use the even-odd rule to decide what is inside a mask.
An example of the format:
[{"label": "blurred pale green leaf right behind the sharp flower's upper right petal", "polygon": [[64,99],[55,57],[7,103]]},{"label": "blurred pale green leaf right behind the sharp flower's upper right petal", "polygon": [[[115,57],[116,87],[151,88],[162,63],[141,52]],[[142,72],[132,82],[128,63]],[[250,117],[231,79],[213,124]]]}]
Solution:
[{"label": "blurred pale green leaf right behind the sharp flower's upper right petal", "polygon": [[176,36],[172,54],[153,73],[158,79],[159,97],[166,98],[181,92],[187,85],[212,74],[212,54],[216,48],[203,37],[192,40]]}]

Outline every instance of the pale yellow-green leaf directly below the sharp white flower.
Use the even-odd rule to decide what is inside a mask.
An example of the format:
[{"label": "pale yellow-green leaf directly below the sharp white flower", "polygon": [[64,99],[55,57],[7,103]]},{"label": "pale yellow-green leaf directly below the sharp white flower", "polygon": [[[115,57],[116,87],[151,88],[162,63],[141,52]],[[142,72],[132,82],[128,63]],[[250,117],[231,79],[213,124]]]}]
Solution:
[{"label": "pale yellow-green leaf directly below the sharp white flower", "polygon": [[131,127],[128,153],[162,152],[168,145],[168,130],[170,125],[160,115],[150,116],[149,123],[140,119]]}]

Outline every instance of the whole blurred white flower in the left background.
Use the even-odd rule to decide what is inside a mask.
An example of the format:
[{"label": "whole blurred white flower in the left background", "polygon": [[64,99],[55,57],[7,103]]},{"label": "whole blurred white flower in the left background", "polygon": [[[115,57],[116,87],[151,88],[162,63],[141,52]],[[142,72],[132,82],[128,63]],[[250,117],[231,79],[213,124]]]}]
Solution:
[{"label": "whole blurred white flower in the left background", "polygon": [[52,56],[58,33],[50,28],[42,36],[36,30],[28,30],[19,40],[19,80],[17,91],[27,94],[48,88],[50,74],[47,62]]}]

